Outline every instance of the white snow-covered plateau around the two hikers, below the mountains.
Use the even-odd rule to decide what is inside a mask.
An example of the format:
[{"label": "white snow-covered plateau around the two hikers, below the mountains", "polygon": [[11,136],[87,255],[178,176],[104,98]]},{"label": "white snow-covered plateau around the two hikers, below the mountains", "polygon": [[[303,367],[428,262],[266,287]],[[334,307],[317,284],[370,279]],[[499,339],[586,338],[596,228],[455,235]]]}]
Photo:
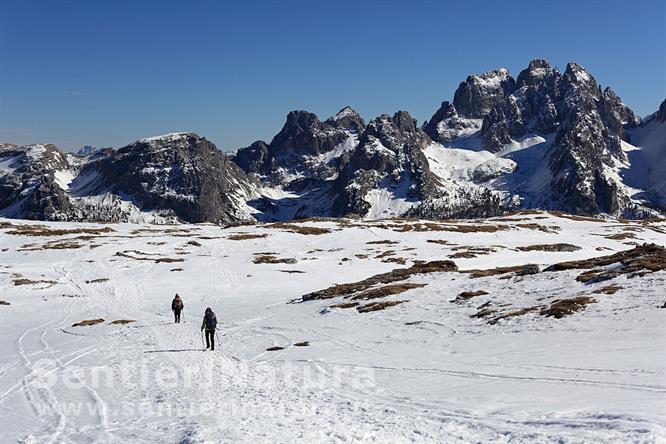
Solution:
[{"label": "white snow-covered plateau around the two hikers, below the mountains", "polygon": [[[0,219],[2,442],[666,440],[665,271],[594,284],[576,280],[581,270],[427,273],[380,311],[331,308],[342,296],[289,303],[414,260],[544,268],[665,245],[666,222],[526,213],[297,227],[330,232]],[[581,249],[517,248],[555,243]],[[621,288],[595,293],[609,285]],[[488,294],[452,302],[477,290]],[[579,295],[596,302],[560,319],[470,317]],[[220,321],[215,352],[202,351],[207,306]],[[123,319],[135,322],[111,324]]]}]

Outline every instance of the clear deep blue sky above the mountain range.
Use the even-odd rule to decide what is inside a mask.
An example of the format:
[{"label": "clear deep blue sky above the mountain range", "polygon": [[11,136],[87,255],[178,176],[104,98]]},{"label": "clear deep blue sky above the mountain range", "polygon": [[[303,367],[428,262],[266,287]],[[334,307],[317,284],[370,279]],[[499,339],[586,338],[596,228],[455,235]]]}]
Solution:
[{"label": "clear deep blue sky above the mountain range", "polygon": [[0,142],[234,150],[292,109],[419,122],[470,73],[585,66],[639,115],[666,96],[666,1],[0,0]]}]

